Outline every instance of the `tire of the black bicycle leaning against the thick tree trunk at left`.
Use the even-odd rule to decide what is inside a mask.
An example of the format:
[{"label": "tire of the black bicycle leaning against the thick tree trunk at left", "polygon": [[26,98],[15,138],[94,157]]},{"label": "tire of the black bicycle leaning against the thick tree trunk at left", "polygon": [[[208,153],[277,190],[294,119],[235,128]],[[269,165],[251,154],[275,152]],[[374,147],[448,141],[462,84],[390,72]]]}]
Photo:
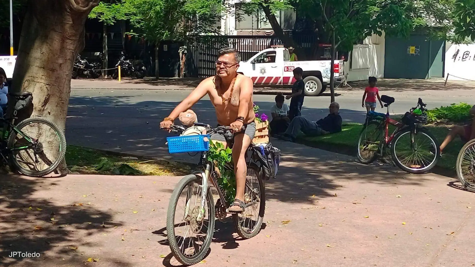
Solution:
[{"label": "tire of the black bicycle leaning against the thick tree trunk at left", "polygon": [[[61,163],[61,161],[63,161],[63,159],[66,155],[66,137],[65,137],[64,133],[59,130],[59,127],[55,123],[53,123],[52,121],[50,121],[48,119],[41,118],[41,117],[36,117],[36,116],[30,117],[26,120],[21,121],[16,127],[21,132],[22,128],[24,128],[26,125],[32,124],[32,123],[47,124],[48,126],[50,126],[55,131],[55,134],[59,138],[59,149],[60,149],[57,158],[54,161],[52,161],[52,164],[49,165],[49,167],[47,169],[45,169],[43,171],[33,171],[33,170],[23,168],[22,166],[20,166],[18,160],[13,155],[13,153],[10,153],[10,164],[13,166],[13,168],[15,170],[17,170],[18,172],[20,172],[22,174],[32,176],[32,177],[42,177],[42,176],[45,176],[45,175],[53,172],[54,170],[56,170],[59,163]],[[8,147],[10,149],[13,148],[16,136],[17,136],[17,133],[15,131],[12,131],[11,134],[10,134],[10,137],[7,141]]]}]

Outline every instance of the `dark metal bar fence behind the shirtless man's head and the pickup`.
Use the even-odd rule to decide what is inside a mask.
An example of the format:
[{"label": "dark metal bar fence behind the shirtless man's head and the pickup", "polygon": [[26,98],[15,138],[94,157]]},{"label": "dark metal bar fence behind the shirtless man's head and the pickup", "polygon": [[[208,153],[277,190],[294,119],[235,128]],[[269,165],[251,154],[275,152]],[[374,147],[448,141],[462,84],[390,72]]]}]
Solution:
[{"label": "dark metal bar fence behind the shirtless man's head and the pickup", "polygon": [[[297,51],[299,59],[305,59],[304,55],[311,55],[315,45],[314,36],[293,36],[300,46]],[[188,65],[191,77],[209,77],[215,74],[215,61],[218,50],[229,47],[234,48],[241,54],[241,60],[248,60],[257,52],[269,48],[272,45],[283,45],[280,38],[276,36],[200,36],[191,41],[189,46],[190,56]],[[301,60],[302,60],[301,59]],[[190,66],[191,65],[191,66]]]}]

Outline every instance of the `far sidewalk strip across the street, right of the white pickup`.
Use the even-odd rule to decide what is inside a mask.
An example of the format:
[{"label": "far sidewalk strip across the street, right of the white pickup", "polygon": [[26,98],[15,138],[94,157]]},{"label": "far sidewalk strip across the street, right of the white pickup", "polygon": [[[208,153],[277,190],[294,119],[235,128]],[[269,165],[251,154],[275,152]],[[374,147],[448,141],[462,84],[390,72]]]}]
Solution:
[{"label": "far sidewalk strip across the street, right of the white pickup", "polygon": [[[349,82],[348,84],[353,88],[344,87],[341,89],[346,91],[361,91],[361,88],[368,86],[367,81]],[[448,81],[447,85],[445,85],[445,80],[380,79],[378,80],[378,88],[383,92],[472,90],[475,89],[475,83]]]}]

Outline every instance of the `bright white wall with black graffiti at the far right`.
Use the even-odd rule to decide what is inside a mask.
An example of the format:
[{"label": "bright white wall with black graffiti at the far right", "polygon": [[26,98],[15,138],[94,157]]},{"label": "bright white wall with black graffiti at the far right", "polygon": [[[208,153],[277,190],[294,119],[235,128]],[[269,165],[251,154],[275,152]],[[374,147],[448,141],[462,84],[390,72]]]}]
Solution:
[{"label": "bright white wall with black graffiti at the far right", "polygon": [[449,80],[475,81],[475,44],[446,44],[445,77]]}]

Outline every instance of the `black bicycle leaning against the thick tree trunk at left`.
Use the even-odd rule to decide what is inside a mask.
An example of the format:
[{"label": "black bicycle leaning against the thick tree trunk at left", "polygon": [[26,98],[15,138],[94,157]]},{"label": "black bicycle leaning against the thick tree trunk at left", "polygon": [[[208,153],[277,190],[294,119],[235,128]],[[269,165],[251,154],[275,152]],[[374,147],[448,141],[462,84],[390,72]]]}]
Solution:
[{"label": "black bicycle leaning against the thick tree trunk at left", "polygon": [[[0,139],[0,163],[9,165],[11,171],[32,177],[42,177],[55,171],[66,154],[64,133],[50,120],[37,116],[15,125],[18,111],[31,105],[33,98],[30,92],[9,93],[9,96],[14,101],[13,115],[0,118],[0,124],[4,125]],[[48,133],[52,133],[53,138],[44,140]]]}]

